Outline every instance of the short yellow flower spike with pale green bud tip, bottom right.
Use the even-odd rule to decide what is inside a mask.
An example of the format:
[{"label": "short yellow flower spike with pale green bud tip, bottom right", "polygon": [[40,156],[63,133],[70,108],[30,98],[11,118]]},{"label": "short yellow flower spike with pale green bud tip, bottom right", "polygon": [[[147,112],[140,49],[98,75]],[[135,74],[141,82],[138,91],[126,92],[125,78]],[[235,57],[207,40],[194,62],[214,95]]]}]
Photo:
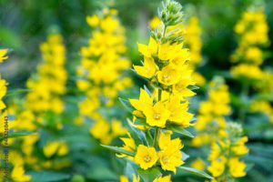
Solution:
[{"label": "short yellow flower spike with pale green bud tip, bottom right", "polygon": [[245,146],[248,137],[242,136],[242,128],[236,123],[227,123],[226,133],[211,146],[207,169],[215,177],[212,181],[224,182],[246,176],[246,164],[239,157],[248,154]]}]

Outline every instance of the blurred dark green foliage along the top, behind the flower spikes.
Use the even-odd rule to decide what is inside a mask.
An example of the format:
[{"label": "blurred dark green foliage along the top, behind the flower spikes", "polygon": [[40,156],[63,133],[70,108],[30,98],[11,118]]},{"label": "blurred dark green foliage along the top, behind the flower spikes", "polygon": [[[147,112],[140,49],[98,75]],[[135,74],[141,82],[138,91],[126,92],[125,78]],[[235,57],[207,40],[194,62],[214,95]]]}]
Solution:
[{"label": "blurred dark green foliage along the top, behind the flower spikes", "polygon": [[[215,75],[215,71],[227,70],[229,56],[236,47],[233,27],[241,13],[248,6],[265,5],[268,25],[273,26],[273,2],[270,0],[191,0],[180,1],[185,8],[186,19],[197,15],[203,30],[203,57],[206,66],[200,72],[206,77]],[[40,60],[39,44],[45,40],[52,29],[59,29],[65,36],[70,68],[79,57],[79,48],[87,41],[89,33],[86,15],[96,14],[103,7],[115,7],[123,25],[126,26],[127,54],[133,61],[139,60],[136,42],[145,40],[148,35],[148,20],[157,14],[159,0],[79,0],[79,1],[0,1],[0,45],[13,48],[13,61],[6,63],[4,76],[7,75],[11,86],[24,86],[25,79],[35,71]],[[272,31],[269,32],[270,39]],[[268,48],[272,48],[272,44]],[[269,64],[269,56],[265,64]],[[20,61],[16,61],[19,59]],[[8,66],[9,64],[15,66]],[[26,66],[27,65],[27,66]]]}]

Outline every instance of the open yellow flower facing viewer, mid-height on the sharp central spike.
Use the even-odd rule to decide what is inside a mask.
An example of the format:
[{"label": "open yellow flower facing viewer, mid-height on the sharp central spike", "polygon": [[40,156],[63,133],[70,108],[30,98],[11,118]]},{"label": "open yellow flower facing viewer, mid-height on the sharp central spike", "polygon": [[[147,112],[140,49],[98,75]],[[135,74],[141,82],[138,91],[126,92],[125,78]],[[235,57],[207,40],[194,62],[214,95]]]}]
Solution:
[{"label": "open yellow flower facing viewer, mid-height on the sharp central spike", "polygon": [[149,126],[164,127],[167,118],[170,116],[170,112],[162,102],[157,102],[155,106],[145,106],[143,112],[147,117],[146,122]]}]

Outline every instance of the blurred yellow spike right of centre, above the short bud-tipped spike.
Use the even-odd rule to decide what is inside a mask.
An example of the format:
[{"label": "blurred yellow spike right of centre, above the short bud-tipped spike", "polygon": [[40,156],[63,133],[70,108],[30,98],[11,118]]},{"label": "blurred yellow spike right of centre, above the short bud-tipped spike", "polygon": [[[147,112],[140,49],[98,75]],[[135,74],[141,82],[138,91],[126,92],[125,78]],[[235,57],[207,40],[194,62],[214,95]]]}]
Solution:
[{"label": "blurred yellow spike right of centre, above the short bud-tipped spike", "polygon": [[231,108],[228,87],[222,81],[212,81],[209,84],[208,100],[200,103],[195,125],[198,135],[192,141],[193,146],[211,144],[217,136],[225,136],[225,116],[230,114]]}]

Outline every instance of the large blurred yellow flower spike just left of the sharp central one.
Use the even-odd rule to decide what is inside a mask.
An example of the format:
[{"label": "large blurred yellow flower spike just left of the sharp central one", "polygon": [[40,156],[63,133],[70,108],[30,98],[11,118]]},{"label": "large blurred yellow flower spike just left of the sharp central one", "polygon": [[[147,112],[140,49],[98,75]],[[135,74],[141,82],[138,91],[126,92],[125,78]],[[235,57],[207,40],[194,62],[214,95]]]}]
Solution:
[{"label": "large blurred yellow flower spike just left of the sharp central one", "polygon": [[125,76],[130,66],[130,61],[123,56],[125,29],[116,15],[115,9],[104,9],[101,15],[87,16],[86,21],[93,28],[92,37],[81,49],[81,65],[76,70],[76,85],[84,93],[76,124],[83,124],[85,117],[94,120],[90,133],[104,144],[125,135],[126,129],[116,118],[111,118],[109,123],[97,109],[113,106],[118,92],[131,86],[131,79]]}]

